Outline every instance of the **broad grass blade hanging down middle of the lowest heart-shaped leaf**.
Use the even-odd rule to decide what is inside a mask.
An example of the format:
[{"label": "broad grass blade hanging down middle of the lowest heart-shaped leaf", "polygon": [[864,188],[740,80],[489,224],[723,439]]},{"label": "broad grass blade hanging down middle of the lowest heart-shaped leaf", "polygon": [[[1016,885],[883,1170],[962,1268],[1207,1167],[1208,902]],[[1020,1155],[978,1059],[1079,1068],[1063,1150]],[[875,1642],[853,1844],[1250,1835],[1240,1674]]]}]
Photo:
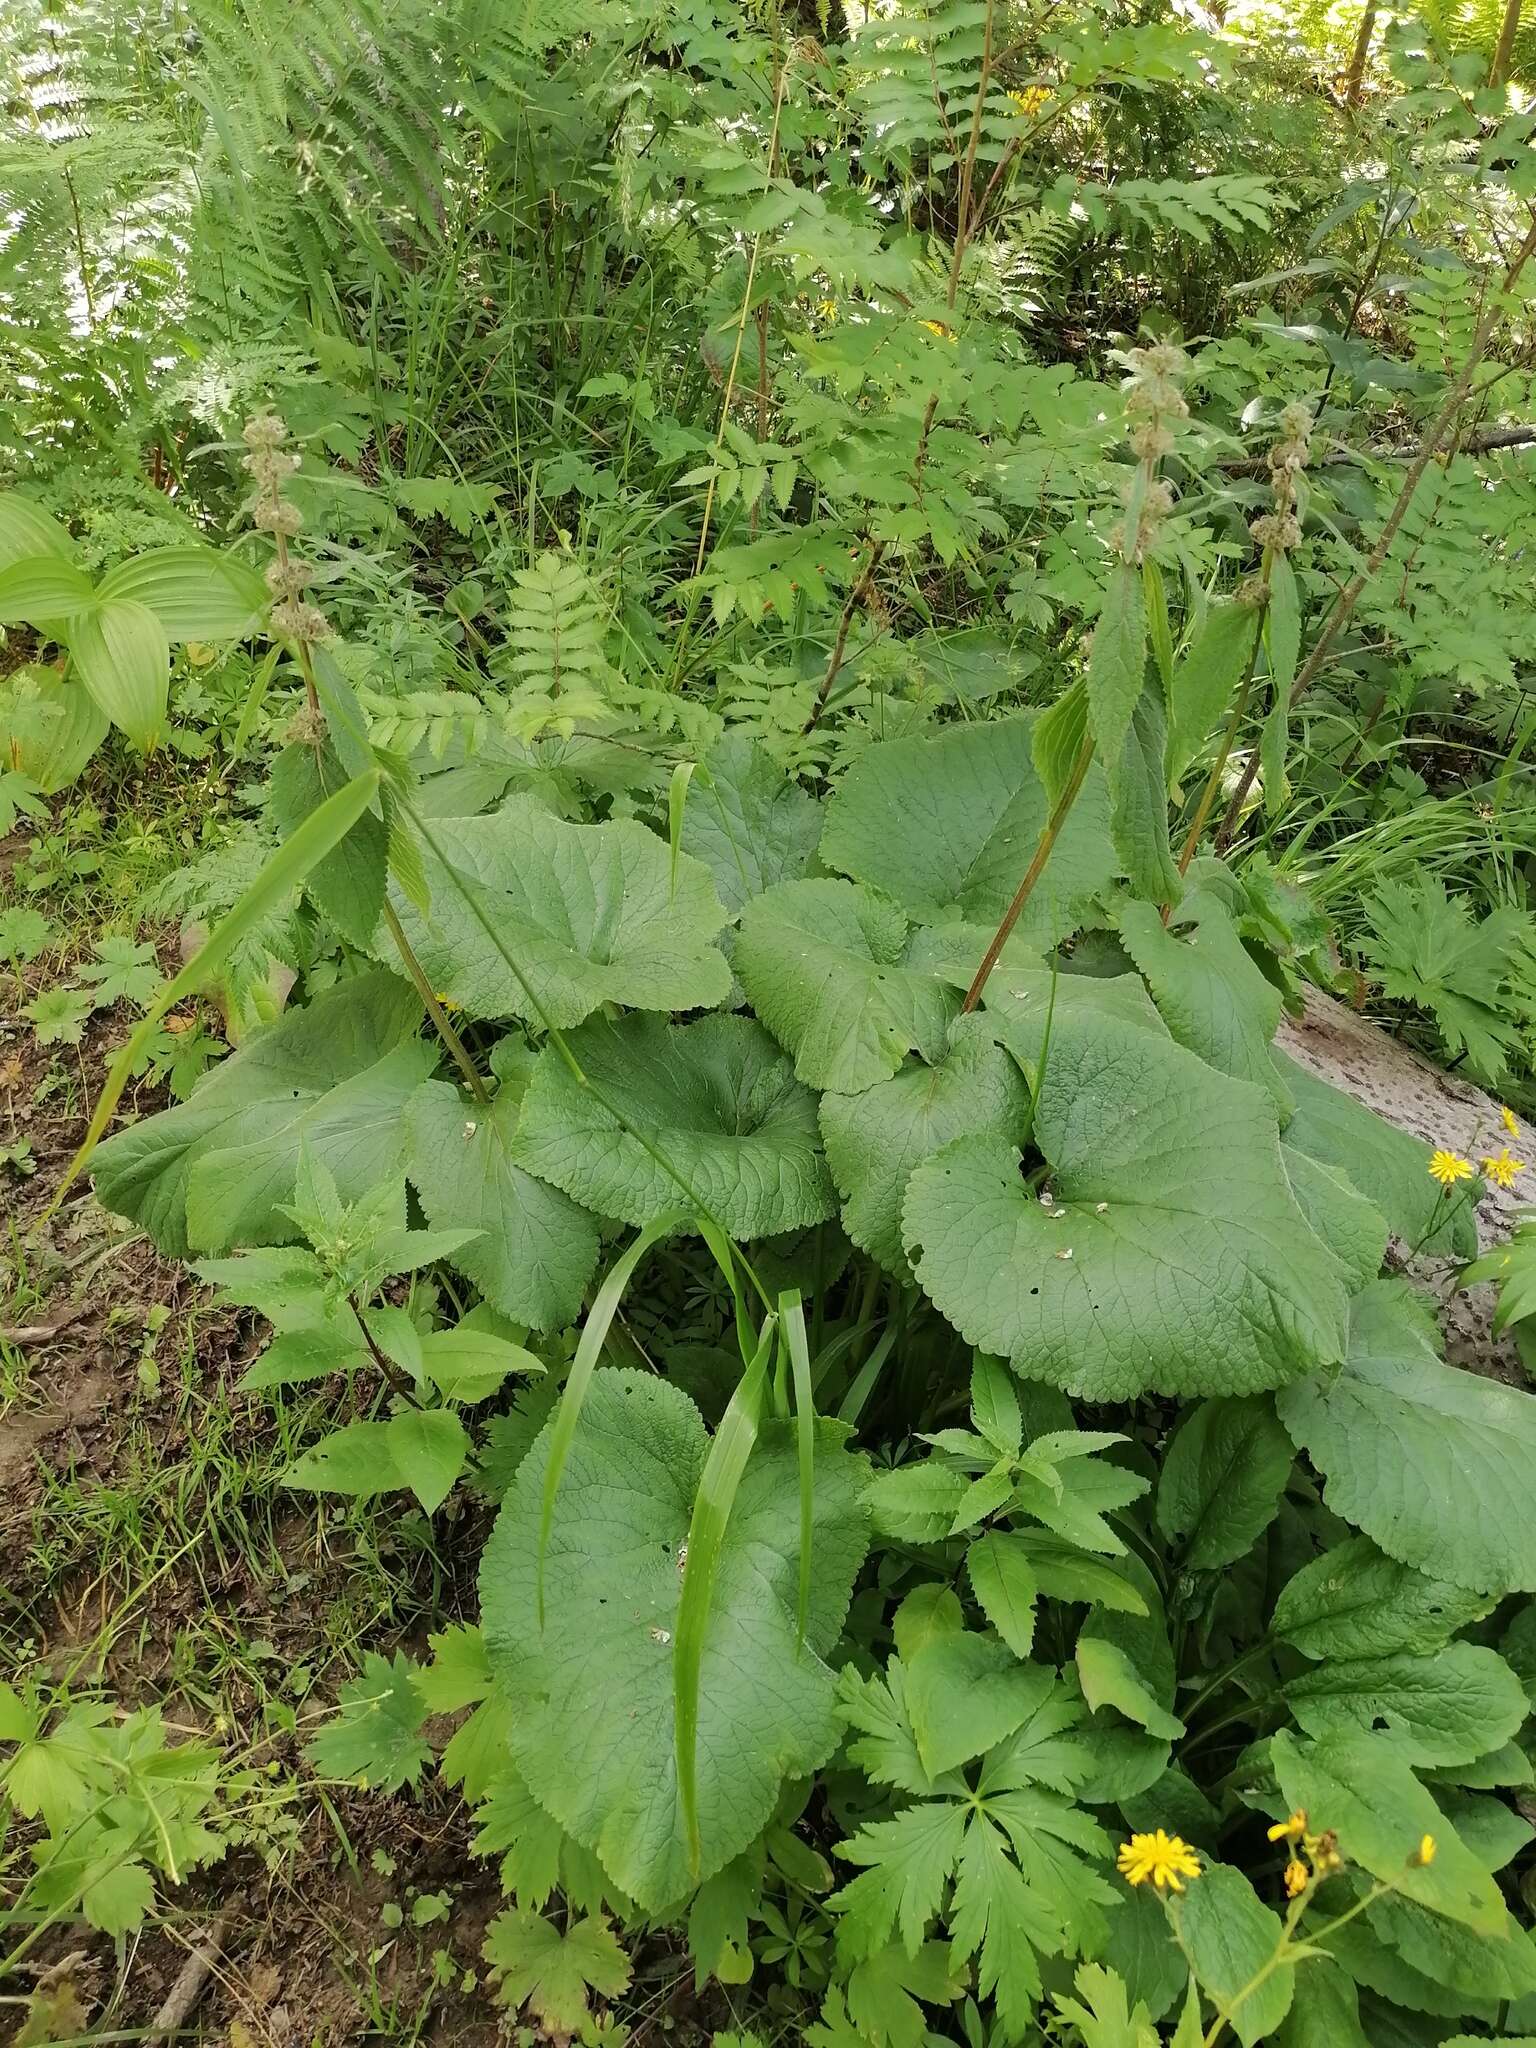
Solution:
[{"label": "broad grass blade hanging down middle of the lowest heart-shaped leaf", "polygon": [[682,1567],[682,1597],[672,1645],[672,1731],[678,1767],[678,1802],[688,1833],[688,1860],[698,1872],[702,1843],[698,1837],[698,1675],[705,1663],[705,1634],[715,1597],[725,1530],[735,1505],[741,1475],[768,1397],[768,1360],[774,1356],[776,1317],[762,1325],[758,1352],[737,1380],[735,1393],[721,1415],[715,1442],[694,1495],[688,1520],[688,1561]]}]

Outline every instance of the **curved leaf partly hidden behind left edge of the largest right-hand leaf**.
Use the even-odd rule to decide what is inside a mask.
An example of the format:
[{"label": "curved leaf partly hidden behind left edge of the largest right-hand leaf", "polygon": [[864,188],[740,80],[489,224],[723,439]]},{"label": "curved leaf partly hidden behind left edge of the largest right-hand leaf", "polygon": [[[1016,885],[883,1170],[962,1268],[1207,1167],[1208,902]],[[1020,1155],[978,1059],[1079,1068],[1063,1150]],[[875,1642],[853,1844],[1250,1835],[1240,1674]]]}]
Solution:
[{"label": "curved leaf partly hidden behind left edge of the largest right-hand leaf", "polygon": [[901,1202],[924,1159],[971,1130],[1018,1135],[1028,1090],[985,1024],[956,1024],[934,1065],[907,1059],[858,1096],[821,1096],[821,1137],[844,1194],[844,1229],[887,1272],[903,1274]]}]

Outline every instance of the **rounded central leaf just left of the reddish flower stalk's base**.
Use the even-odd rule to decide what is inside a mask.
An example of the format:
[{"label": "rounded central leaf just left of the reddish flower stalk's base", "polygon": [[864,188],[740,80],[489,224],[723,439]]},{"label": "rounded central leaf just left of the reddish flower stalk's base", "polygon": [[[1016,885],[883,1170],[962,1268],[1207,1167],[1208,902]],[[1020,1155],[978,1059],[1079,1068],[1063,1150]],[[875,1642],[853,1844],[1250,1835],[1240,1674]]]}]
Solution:
[{"label": "rounded central leaf just left of the reddish flower stalk's base", "polygon": [[944,1057],[961,997],[915,954],[920,936],[872,889],[782,883],[741,911],[735,971],[811,1087],[856,1094],[907,1053]]}]

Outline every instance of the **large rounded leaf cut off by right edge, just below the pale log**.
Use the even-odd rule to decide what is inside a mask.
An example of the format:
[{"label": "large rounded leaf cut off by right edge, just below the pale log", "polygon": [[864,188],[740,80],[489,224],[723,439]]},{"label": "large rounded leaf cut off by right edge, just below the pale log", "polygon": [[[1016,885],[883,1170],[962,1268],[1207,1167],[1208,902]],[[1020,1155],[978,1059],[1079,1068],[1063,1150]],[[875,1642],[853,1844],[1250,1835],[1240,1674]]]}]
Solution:
[{"label": "large rounded leaf cut off by right edge, just below the pale log", "polygon": [[1327,1505],[1389,1556],[1475,1593],[1536,1591],[1536,1395],[1444,1366],[1411,1288],[1358,1294],[1343,1368],[1278,1409]]}]

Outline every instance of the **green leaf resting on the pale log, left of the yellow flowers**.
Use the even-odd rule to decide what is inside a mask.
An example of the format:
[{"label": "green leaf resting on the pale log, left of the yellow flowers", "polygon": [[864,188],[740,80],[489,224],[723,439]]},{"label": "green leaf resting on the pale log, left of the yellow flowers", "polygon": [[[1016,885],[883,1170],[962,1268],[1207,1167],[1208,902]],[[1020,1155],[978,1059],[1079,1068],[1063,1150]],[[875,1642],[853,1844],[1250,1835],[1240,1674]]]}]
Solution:
[{"label": "green leaf resting on the pale log, left of the yellow flowers", "polygon": [[1438,1182],[1430,1180],[1430,1147],[1421,1139],[1288,1055],[1276,1053],[1274,1061],[1296,1104],[1286,1124],[1288,1149],[1343,1174],[1405,1243],[1438,1257],[1473,1257],[1477,1217],[1470,1204],[1444,1200]]}]

